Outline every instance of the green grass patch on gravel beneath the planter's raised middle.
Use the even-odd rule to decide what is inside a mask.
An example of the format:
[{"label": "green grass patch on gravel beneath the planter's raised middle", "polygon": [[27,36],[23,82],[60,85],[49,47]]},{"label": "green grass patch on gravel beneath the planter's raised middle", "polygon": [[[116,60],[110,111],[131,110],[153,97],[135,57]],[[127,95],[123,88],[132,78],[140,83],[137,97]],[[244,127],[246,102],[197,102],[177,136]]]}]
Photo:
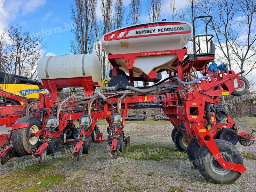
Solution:
[{"label": "green grass patch on gravel beneath the planter's raised middle", "polygon": [[155,160],[161,159],[187,159],[187,153],[180,152],[174,146],[151,146],[135,145],[124,148],[119,156],[135,160]]}]

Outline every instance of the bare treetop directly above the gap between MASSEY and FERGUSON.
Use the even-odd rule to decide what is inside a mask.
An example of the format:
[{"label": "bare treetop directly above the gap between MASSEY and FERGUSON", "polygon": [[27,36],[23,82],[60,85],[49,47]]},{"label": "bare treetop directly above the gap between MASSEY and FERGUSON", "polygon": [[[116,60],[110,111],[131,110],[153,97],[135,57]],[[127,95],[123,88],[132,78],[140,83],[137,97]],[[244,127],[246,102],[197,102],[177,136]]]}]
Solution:
[{"label": "bare treetop directly above the gap between MASSEY and FERGUSON", "polygon": [[163,0],[148,0],[148,17],[151,22],[161,19],[161,11],[163,9]]}]

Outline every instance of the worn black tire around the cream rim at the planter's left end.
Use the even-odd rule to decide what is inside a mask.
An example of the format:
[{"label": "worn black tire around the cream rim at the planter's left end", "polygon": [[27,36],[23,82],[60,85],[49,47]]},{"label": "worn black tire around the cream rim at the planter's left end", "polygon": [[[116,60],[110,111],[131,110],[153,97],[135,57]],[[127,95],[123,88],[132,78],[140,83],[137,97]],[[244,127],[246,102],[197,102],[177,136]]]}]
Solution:
[{"label": "worn black tire around the cream rim at the planter's left end", "polygon": [[31,126],[36,125],[38,129],[42,129],[42,124],[35,116],[25,116],[16,121],[16,124],[28,123],[28,127],[15,129],[12,132],[13,147],[20,155],[30,155],[33,151],[32,148],[37,148],[39,141],[35,145],[29,142],[28,132]]}]

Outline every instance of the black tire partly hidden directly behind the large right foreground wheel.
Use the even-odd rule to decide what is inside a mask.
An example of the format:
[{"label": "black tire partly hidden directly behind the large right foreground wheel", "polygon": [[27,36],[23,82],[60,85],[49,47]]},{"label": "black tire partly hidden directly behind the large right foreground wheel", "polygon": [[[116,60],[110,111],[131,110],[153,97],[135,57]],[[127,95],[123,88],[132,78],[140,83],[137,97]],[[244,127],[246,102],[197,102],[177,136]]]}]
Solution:
[{"label": "black tire partly hidden directly behind the large right foreground wheel", "polygon": [[187,149],[188,159],[196,168],[197,164],[199,163],[199,161],[197,160],[197,152],[199,148],[200,146],[194,138],[189,141]]}]

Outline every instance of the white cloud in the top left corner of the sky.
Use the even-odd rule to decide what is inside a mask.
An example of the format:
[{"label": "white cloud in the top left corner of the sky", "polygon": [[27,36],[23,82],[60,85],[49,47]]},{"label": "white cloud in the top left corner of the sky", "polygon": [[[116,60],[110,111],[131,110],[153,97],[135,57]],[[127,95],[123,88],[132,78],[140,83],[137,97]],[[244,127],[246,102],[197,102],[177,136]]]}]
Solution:
[{"label": "white cloud in the top left corner of the sky", "polygon": [[28,15],[42,5],[46,0],[1,0],[0,1],[0,29],[14,21],[18,16]]}]

